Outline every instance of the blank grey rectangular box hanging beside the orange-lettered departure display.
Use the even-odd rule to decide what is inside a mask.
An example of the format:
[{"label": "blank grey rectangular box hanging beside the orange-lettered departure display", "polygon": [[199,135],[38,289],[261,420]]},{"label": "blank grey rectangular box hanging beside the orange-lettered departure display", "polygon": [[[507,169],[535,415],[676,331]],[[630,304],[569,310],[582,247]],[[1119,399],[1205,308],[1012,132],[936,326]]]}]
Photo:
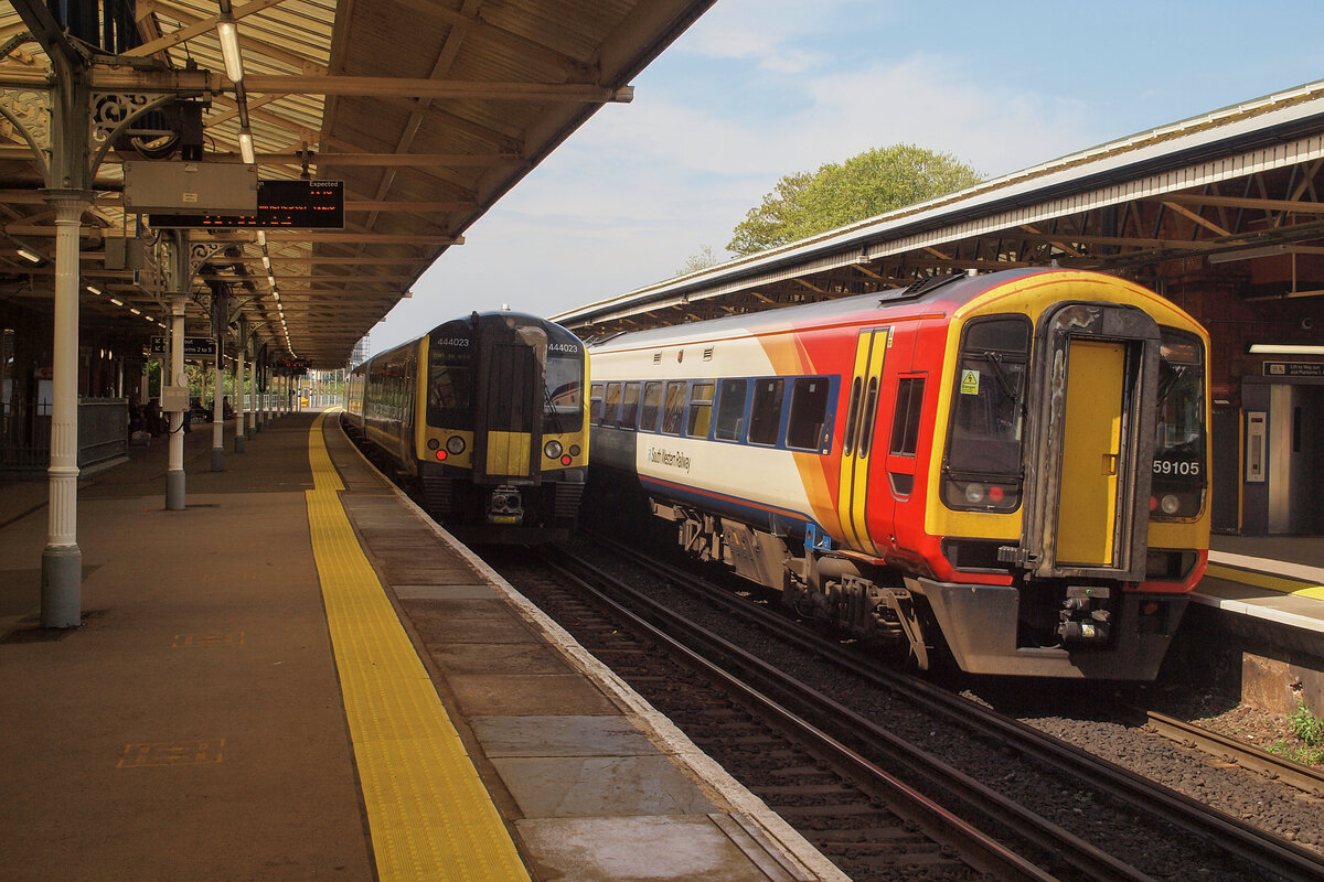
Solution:
[{"label": "blank grey rectangular box hanging beside the orange-lettered departure display", "polygon": [[126,161],[124,210],[254,214],[257,167],[246,163]]}]

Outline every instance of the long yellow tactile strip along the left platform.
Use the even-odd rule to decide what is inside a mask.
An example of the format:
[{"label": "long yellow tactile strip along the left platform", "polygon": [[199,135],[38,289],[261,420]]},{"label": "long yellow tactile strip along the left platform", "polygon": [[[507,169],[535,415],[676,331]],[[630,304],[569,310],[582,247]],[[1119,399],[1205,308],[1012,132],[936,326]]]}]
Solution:
[{"label": "long yellow tactile strip along the left platform", "polygon": [[426,669],[359,547],[322,438],[308,434],[312,555],[384,882],[528,879]]}]

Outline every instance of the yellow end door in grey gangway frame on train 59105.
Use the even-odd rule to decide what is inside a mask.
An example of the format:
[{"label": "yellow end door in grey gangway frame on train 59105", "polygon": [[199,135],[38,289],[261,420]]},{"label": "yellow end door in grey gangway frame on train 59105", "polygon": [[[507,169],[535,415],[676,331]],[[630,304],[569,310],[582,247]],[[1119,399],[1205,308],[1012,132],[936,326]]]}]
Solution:
[{"label": "yellow end door in grey gangway frame on train 59105", "polygon": [[1071,304],[1041,325],[1025,542],[1038,575],[1144,577],[1158,340],[1125,307]]}]

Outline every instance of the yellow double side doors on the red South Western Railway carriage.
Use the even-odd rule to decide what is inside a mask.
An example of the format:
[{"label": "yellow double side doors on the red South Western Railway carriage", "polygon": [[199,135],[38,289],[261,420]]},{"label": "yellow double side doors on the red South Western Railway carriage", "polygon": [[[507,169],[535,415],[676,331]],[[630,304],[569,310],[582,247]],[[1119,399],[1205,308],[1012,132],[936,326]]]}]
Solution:
[{"label": "yellow double side doors on the red South Western Railway carriage", "polygon": [[[883,360],[891,340],[890,328],[861,331],[855,339],[855,362],[846,402],[846,428],[842,432],[841,481],[837,514],[842,542],[849,547],[876,554],[869,537],[869,461],[878,423],[878,395],[883,385]],[[886,442],[886,439],[884,439]]]}]

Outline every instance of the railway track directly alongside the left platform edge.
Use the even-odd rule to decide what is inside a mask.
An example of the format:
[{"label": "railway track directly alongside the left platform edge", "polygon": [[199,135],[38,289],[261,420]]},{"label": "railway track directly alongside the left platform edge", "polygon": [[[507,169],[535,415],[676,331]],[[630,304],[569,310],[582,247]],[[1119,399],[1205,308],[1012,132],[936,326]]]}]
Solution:
[{"label": "railway track directly alongside the left platform edge", "polygon": [[[683,643],[674,639],[617,604],[602,588],[622,586],[579,561],[491,562],[857,882],[1057,878],[765,694],[775,685],[769,677],[782,677],[720,637],[691,627]],[[659,645],[665,653],[653,651]],[[741,674],[732,668],[743,668]],[[751,676],[760,668],[761,677]],[[784,688],[777,692],[788,697]],[[796,703],[818,717],[847,713],[812,690]],[[867,722],[859,726],[869,730]],[[940,766],[929,771],[952,774]],[[1082,845],[1058,840],[1059,832],[1041,833],[1061,848]],[[1107,861],[1096,853],[1091,858]]]}]

